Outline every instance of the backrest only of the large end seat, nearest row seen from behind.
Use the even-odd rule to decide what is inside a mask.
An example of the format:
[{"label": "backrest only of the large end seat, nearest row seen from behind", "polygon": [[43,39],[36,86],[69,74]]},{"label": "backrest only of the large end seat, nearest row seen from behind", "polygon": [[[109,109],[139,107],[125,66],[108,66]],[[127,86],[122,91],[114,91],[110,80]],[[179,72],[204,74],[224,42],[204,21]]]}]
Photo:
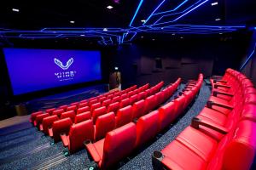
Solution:
[{"label": "backrest only of the large end seat, nearest row seen from behind", "polygon": [[135,142],[136,125],[133,122],[107,133],[100,167],[109,167],[128,156],[134,149]]}]

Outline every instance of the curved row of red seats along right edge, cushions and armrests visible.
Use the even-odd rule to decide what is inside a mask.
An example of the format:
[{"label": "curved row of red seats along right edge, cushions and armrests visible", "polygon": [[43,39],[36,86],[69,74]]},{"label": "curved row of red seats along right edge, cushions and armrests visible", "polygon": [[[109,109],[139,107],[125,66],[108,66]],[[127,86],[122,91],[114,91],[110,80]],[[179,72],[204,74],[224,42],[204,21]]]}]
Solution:
[{"label": "curved row of red seats along right edge, cushions and armrests visible", "polygon": [[256,153],[256,89],[232,69],[211,82],[206,107],[164,150],[154,151],[154,169],[250,169]]}]

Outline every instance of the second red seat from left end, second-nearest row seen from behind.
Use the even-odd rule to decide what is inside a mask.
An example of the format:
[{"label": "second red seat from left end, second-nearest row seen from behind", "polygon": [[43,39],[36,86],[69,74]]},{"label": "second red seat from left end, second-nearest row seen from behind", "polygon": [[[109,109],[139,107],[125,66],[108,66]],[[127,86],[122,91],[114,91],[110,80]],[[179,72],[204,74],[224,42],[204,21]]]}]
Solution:
[{"label": "second red seat from left end, second-nearest row seen from behind", "polygon": [[115,127],[115,115],[113,112],[98,116],[95,125],[95,141],[105,138],[106,134]]}]

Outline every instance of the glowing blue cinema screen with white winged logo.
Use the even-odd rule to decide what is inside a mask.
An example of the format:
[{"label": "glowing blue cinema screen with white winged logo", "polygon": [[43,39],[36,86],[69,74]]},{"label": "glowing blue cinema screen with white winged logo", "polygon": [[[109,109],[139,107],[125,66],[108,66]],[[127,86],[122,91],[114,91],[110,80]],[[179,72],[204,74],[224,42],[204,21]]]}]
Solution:
[{"label": "glowing blue cinema screen with white winged logo", "polygon": [[3,48],[15,95],[102,79],[99,51]]}]

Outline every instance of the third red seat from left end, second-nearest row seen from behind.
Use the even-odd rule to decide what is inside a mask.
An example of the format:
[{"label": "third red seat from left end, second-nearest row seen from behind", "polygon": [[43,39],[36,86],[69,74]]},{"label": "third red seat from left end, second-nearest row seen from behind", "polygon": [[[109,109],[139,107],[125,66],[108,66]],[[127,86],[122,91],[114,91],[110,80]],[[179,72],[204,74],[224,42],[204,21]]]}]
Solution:
[{"label": "third red seat from left end, second-nearest row seen from behind", "polygon": [[115,118],[115,127],[121,127],[131,122],[132,107],[128,105],[124,108],[119,109]]}]

